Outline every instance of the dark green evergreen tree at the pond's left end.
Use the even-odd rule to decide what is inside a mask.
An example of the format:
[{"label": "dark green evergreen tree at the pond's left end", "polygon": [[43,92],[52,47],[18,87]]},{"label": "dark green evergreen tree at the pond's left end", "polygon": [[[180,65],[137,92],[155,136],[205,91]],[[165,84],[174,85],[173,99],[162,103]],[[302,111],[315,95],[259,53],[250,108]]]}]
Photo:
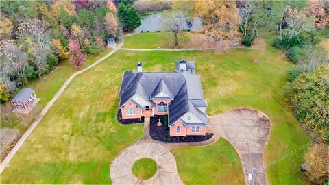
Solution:
[{"label": "dark green evergreen tree at the pond's left end", "polygon": [[128,9],[123,3],[120,3],[118,7],[118,17],[123,30],[126,32],[132,32],[142,24],[136,9],[134,7]]}]

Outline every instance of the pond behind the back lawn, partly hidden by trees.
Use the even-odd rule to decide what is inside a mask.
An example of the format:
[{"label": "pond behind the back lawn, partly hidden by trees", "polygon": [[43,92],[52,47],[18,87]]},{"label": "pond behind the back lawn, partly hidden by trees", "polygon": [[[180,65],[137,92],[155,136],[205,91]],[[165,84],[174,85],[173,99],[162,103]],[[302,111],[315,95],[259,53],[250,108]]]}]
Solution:
[{"label": "pond behind the back lawn, partly hidden by trees", "polygon": [[[156,12],[154,14],[148,14],[141,16],[142,25],[137,27],[136,32],[156,32],[164,31],[162,27],[162,12]],[[183,20],[182,29],[198,30],[202,29],[202,20],[201,18],[193,18],[191,23],[188,23]]]}]

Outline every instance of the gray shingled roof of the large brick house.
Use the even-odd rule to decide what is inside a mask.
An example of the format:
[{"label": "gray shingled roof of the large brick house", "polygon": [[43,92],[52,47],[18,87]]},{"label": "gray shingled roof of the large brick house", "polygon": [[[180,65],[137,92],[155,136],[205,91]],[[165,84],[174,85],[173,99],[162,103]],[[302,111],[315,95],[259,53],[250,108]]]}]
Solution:
[{"label": "gray shingled roof of the large brick house", "polygon": [[141,95],[150,104],[154,104],[150,99],[163,91],[173,97],[173,101],[169,104],[169,125],[178,121],[187,112],[192,112],[202,120],[202,123],[186,124],[208,125],[206,112],[197,109],[197,107],[207,107],[199,75],[180,71],[125,71],[122,80],[119,108],[135,94]]}]

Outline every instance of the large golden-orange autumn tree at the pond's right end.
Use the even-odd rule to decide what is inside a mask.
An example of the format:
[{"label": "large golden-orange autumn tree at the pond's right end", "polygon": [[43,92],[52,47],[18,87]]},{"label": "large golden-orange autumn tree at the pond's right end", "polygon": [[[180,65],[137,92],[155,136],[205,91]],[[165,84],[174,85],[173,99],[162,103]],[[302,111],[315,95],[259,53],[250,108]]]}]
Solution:
[{"label": "large golden-orange autumn tree at the pond's right end", "polygon": [[229,40],[231,45],[240,42],[239,13],[235,1],[194,1],[196,16],[202,18],[204,32],[215,42]]}]

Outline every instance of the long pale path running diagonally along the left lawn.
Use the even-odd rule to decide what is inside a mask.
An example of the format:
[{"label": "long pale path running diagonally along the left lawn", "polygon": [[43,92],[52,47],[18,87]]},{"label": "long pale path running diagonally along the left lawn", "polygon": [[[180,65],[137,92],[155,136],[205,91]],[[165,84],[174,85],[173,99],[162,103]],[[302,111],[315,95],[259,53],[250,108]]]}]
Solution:
[{"label": "long pale path running diagonally along the left lawn", "polygon": [[38,125],[38,123],[40,123],[41,119],[48,112],[49,108],[51,108],[51,106],[53,106],[53,103],[58,99],[58,97],[60,97],[60,95],[62,95],[63,91],[71,83],[72,79],[74,79],[77,75],[80,75],[81,73],[84,73],[85,71],[88,71],[89,69],[91,69],[94,66],[96,66],[97,64],[99,64],[101,61],[103,61],[106,58],[108,58],[109,56],[111,56],[113,53],[115,53],[116,51],[118,51],[118,49],[120,47],[122,47],[122,45],[123,45],[123,38],[120,39],[119,45],[117,47],[115,47],[110,53],[106,54],[106,56],[103,56],[102,58],[99,58],[99,60],[97,60],[96,62],[94,62],[90,66],[87,66],[85,69],[82,69],[80,71],[75,72],[73,75],[71,75],[71,77],[69,77],[69,79],[66,79],[66,82],[62,85],[62,87],[60,87],[60,90],[58,90],[58,92],[51,99],[51,101],[49,101],[47,103],[47,106],[45,106],[45,108],[42,110],[42,112],[36,117],[36,119],[34,120],[34,122],[32,123],[32,125],[27,129],[27,131],[23,134],[23,136],[16,143],[16,145],[14,146],[14,148],[12,149],[12,151],[10,151],[10,153],[8,153],[8,156],[5,157],[5,160],[3,160],[3,162],[0,165],[0,173],[3,172],[3,170],[8,165],[8,163],[10,162],[10,160],[12,160],[12,158],[14,157],[14,155],[16,154],[16,152],[23,145],[23,143],[25,142],[25,140],[27,139],[27,137],[29,136],[29,134],[32,133],[32,131],[34,130],[34,128],[36,127],[36,125]]}]

